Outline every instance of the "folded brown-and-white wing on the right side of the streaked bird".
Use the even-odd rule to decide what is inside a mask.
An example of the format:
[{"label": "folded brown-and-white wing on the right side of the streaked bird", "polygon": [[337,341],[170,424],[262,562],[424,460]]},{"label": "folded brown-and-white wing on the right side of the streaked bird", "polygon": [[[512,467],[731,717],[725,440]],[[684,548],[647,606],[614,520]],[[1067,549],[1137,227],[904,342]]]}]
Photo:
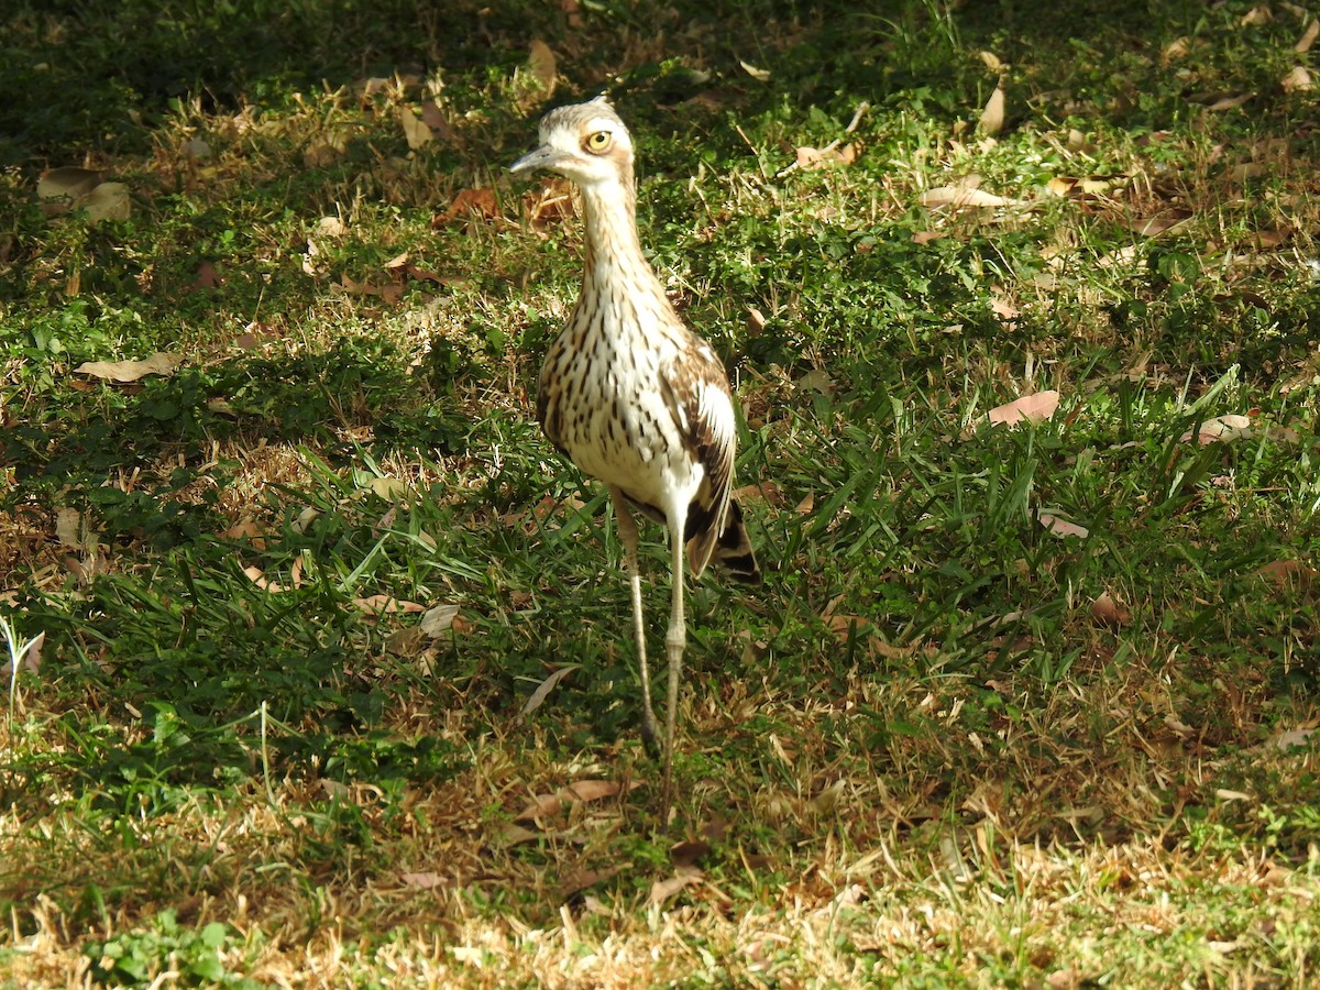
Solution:
[{"label": "folded brown-and-white wing on the right side of the streaked bird", "polygon": [[660,368],[675,422],[684,444],[705,470],[688,507],[685,539],[693,574],[701,574],[725,527],[734,479],[738,424],[723,364],[705,341],[693,337]]}]

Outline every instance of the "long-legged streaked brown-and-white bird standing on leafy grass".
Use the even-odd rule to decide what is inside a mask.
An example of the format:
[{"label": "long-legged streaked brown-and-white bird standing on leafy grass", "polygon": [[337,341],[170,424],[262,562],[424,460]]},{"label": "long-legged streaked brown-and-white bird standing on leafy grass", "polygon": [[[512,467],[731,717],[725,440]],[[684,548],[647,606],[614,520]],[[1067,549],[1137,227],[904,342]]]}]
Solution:
[{"label": "long-legged streaked brown-and-white bird standing on leafy grass", "polygon": [[642,251],[632,136],[607,98],[549,111],[537,136],[540,145],[510,172],[557,173],[581,190],[585,249],[577,305],[541,366],[536,418],[562,454],[609,488],[632,595],[642,738],[652,750],[659,725],[651,702],[634,512],[669,531],[664,822],[686,644],[684,564],[694,577],[715,561],[739,581],[760,582],[742,508],[731,494],[734,396],[723,363],[675,312]]}]

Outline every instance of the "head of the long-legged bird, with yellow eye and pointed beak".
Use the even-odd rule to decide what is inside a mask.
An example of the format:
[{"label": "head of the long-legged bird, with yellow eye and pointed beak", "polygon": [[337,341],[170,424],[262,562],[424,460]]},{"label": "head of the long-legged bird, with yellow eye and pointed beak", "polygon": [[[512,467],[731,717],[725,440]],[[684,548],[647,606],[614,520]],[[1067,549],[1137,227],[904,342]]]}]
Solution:
[{"label": "head of the long-legged bird, with yellow eye and pointed beak", "polygon": [[537,131],[541,147],[508,166],[515,176],[545,169],[582,187],[632,185],[632,137],[605,96],[552,110]]}]

